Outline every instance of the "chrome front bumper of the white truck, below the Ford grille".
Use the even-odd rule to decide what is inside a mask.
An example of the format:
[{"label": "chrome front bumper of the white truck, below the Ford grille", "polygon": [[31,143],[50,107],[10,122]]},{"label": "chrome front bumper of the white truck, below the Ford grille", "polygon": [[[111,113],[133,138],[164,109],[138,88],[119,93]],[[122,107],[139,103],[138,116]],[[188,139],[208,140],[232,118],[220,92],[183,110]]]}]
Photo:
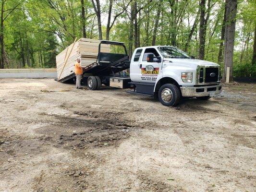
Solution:
[{"label": "chrome front bumper of the white truck, below the Ford grille", "polygon": [[182,96],[195,97],[195,96],[213,96],[221,93],[222,85],[213,86],[200,86],[200,87],[180,87]]}]

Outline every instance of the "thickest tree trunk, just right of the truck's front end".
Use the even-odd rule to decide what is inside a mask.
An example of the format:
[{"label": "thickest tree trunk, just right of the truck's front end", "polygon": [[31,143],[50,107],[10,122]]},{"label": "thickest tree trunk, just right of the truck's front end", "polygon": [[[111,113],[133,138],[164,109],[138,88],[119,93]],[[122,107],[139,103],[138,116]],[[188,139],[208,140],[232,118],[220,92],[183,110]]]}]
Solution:
[{"label": "thickest tree trunk, just right of the truck's front end", "polygon": [[230,67],[230,81],[233,81],[233,53],[235,37],[235,16],[237,12],[237,0],[226,0],[227,15],[225,26],[224,47],[224,80],[226,80],[227,67]]}]

